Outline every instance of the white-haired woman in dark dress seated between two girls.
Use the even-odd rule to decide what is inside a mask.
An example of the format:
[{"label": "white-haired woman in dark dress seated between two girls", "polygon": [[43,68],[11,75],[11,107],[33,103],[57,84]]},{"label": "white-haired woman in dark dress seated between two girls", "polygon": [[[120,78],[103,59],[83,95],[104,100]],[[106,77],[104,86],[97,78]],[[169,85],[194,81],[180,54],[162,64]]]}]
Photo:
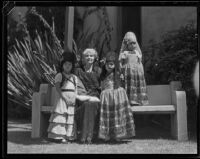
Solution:
[{"label": "white-haired woman in dark dress seated between two girls", "polygon": [[82,81],[89,96],[95,96],[88,101],[81,102],[77,111],[77,124],[80,130],[81,143],[92,143],[94,133],[98,133],[98,115],[99,115],[99,95],[100,95],[100,73],[101,69],[95,65],[97,52],[94,49],[85,49],[82,54],[80,67],[75,70],[75,74]]}]

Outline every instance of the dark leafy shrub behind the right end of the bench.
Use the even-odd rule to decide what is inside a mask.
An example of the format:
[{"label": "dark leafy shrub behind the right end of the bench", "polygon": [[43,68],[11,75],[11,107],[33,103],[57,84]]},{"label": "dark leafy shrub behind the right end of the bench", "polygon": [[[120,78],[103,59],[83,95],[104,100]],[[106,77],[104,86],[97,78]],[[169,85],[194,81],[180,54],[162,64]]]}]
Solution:
[{"label": "dark leafy shrub behind the right end of the bench", "polygon": [[143,53],[147,84],[181,81],[182,88],[186,91],[189,127],[196,127],[197,98],[192,76],[198,54],[197,29],[194,23],[167,32],[158,43],[151,41]]}]

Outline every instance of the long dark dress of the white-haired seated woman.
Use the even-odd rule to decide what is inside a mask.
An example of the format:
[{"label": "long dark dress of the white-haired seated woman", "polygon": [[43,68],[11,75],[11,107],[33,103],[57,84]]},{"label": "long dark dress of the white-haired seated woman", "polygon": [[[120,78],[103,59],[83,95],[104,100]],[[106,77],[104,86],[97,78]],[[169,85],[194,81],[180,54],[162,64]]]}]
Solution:
[{"label": "long dark dress of the white-haired seated woman", "polygon": [[[97,69],[96,69],[97,68]],[[83,68],[77,68],[75,74],[82,81],[89,96],[99,98],[100,86],[99,76],[100,70],[98,67],[93,68],[92,72],[86,72]],[[80,131],[81,142],[92,141],[98,132],[98,102],[80,102],[79,110],[77,111],[77,124]]]}]

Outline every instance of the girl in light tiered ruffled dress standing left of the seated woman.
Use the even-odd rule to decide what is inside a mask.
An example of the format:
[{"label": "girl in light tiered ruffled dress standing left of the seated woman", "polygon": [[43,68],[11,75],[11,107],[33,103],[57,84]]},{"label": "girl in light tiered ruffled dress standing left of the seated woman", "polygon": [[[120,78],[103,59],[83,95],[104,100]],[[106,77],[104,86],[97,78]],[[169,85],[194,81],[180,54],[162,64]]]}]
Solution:
[{"label": "girl in light tiered ruffled dress standing left of the seated woman", "polygon": [[73,74],[75,55],[64,52],[61,72],[55,76],[55,87],[59,95],[49,119],[48,138],[67,142],[76,139],[75,100],[89,100],[89,96],[77,95],[77,77]]}]

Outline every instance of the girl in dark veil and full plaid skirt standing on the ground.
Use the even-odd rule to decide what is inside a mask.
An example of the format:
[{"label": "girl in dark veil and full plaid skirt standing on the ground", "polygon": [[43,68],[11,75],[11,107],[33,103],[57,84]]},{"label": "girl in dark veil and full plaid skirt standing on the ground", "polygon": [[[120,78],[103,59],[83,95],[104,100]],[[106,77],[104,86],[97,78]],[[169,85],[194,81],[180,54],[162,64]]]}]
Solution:
[{"label": "girl in dark veil and full plaid skirt standing on the ground", "polygon": [[99,138],[120,140],[135,136],[135,125],[128,97],[120,87],[120,77],[116,67],[115,52],[109,52],[103,66],[100,96]]}]

